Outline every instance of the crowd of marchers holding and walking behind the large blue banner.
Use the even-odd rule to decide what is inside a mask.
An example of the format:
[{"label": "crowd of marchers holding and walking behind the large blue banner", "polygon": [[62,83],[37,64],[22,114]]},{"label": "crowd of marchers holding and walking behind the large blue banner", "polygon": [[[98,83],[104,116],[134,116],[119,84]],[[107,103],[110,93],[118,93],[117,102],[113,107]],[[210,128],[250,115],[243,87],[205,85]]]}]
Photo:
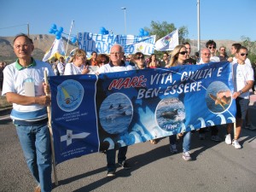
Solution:
[{"label": "crowd of marchers holding and walking behind the large blue banner", "polygon": [[[146,58],[142,52],[134,55],[126,55],[124,49],[119,44],[114,44],[110,49],[110,54],[92,53],[90,60],[86,58],[83,49],[76,49],[70,61],[65,61],[64,57],[46,62],[32,58],[34,45],[32,39],[25,34],[19,34],[14,39],[14,51],[17,61],[7,65],[3,70],[3,62],[0,63],[1,80],[3,81],[3,92],[7,101],[13,103],[11,118],[20,145],[26,158],[26,164],[32,172],[32,176],[38,183],[35,191],[51,191],[51,151],[49,146],[49,129],[46,107],[49,106],[49,85],[44,83],[44,73],[42,68],[47,71],[49,76],[55,75],[77,75],[93,73],[113,73],[128,70],[141,70],[145,68],[157,67],[179,67],[183,65],[203,65],[216,61],[230,61],[234,69],[235,90],[230,92],[219,92],[218,97],[232,96],[236,100],[236,131],[231,139],[232,124],[227,125],[227,135],[225,143],[232,144],[235,148],[241,148],[239,136],[241,127],[245,125],[247,108],[249,103],[249,90],[253,88],[254,76],[253,67],[247,59],[247,48],[241,44],[233,44],[231,47],[232,57],[226,55],[225,47],[219,47],[217,55],[217,45],[213,40],[209,40],[206,48],[201,49],[200,55],[192,57],[189,43],[177,45],[172,53],[163,53],[161,60],[152,54]],[[3,78],[4,77],[4,78]],[[1,87],[2,88],[2,87]],[[211,139],[220,142],[218,137],[218,127],[209,127]],[[190,143],[191,131],[183,132],[178,135],[183,138],[183,160],[191,160]],[[205,129],[199,131],[199,138],[205,139]],[[171,153],[177,153],[177,136],[173,135],[170,139]],[[155,142],[157,143],[157,142]],[[128,147],[119,148],[118,165],[124,169],[130,169],[126,161]],[[115,149],[106,152],[107,176],[115,176]]]}]

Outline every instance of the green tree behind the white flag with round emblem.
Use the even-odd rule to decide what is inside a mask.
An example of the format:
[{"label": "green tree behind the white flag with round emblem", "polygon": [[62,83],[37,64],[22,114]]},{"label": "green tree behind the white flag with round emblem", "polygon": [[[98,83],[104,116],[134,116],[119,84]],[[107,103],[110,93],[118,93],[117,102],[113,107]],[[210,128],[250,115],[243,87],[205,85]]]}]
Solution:
[{"label": "green tree behind the white flag with round emblem", "polygon": [[[149,27],[144,27],[145,31],[149,32],[149,35],[156,35],[155,37],[155,41],[157,41],[160,38],[165,37],[167,34],[169,34],[170,32],[173,32],[174,30],[176,30],[177,28],[174,26],[173,23],[167,23],[166,21],[163,21],[162,23],[160,23],[159,21],[151,21],[150,24],[150,28]],[[186,41],[189,41],[188,38],[186,38],[188,36],[188,29],[186,26],[181,26],[178,29],[178,42],[179,44],[183,44]],[[154,53],[157,56],[162,55],[162,52],[160,51],[154,51]]]}]

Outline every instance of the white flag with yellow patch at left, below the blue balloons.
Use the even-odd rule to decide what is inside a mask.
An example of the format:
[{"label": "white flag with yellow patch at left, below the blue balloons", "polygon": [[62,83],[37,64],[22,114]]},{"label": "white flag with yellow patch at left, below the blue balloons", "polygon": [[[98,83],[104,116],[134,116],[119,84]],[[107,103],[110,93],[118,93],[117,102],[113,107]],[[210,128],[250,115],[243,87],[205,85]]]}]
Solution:
[{"label": "white flag with yellow patch at left, below the blue balloons", "polygon": [[50,60],[52,57],[59,59],[60,56],[64,56],[64,55],[65,55],[65,50],[64,50],[64,44],[63,44],[62,38],[61,39],[55,38],[55,41],[51,45],[51,48],[44,55],[43,61]]}]

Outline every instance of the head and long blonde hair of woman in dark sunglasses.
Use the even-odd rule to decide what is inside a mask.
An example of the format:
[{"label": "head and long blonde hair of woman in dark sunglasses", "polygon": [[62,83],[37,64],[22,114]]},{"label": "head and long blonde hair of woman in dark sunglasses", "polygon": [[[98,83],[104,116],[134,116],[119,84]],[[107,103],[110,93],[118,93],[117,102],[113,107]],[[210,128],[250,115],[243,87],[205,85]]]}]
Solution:
[{"label": "head and long blonde hair of woman in dark sunglasses", "polygon": [[185,63],[185,60],[187,59],[188,51],[186,50],[186,47],[184,45],[177,45],[173,51],[171,60],[166,67],[175,67],[175,66],[182,66]]}]

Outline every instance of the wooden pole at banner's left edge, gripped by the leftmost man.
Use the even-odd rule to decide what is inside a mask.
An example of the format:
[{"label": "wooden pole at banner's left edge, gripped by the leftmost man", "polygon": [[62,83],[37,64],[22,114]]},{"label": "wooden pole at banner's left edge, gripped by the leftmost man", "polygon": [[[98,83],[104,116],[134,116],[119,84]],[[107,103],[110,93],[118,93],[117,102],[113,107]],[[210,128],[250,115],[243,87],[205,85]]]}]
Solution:
[{"label": "wooden pole at banner's left edge, gripped by the leftmost man", "polygon": [[[47,71],[44,70],[44,82],[45,84],[49,84],[47,79]],[[48,93],[46,93],[46,96],[49,96]],[[53,170],[54,170],[54,177],[55,177],[55,185],[58,185],[58,177],[57,177],[57,171],[56,171],[56,164],[55,164],[55,146],[53,143],[53,132],[51,127],[51,108],[47,106],[47,114],[48,114],[48,127],[49,127],[49,138],[50,138],[50,148],[52,153],[52,163],[53,163]]]}]

